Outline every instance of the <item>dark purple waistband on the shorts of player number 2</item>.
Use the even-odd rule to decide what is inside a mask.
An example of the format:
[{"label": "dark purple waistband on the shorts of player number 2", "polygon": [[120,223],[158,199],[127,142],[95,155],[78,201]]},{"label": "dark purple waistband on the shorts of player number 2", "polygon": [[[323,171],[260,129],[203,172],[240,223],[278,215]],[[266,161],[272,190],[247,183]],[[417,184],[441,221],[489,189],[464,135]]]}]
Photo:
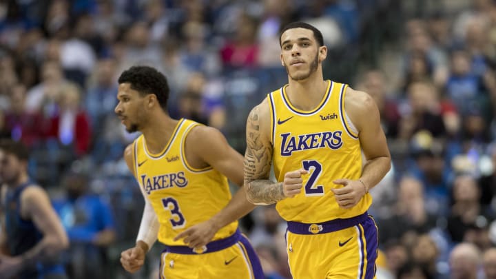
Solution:
[{"label": "dark purple waistband on the shorts of player number 2", "polygon": [[353,227],[362,223],[369,214],[365,211],[364,214],[347,218],[347,219],[334,219],[324,223],[306,224],[293,221],[287,222],[287,229],[293,234],[327,234],[332,231],[339,231],[347,227]]}]

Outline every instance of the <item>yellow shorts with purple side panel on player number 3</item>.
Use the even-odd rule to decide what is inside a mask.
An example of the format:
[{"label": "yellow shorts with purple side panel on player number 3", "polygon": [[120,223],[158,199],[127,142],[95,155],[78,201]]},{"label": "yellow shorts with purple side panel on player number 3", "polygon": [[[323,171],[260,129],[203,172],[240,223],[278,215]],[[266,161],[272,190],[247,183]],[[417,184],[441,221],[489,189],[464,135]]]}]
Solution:
[{"label": "yellow shorts with purple side panel on player number 3", "polygon": [[264,279],[255,250],[245,236],[232,236],[207,244],[202,254],[185,246],[167,247],[161,255],[161,279]]}]

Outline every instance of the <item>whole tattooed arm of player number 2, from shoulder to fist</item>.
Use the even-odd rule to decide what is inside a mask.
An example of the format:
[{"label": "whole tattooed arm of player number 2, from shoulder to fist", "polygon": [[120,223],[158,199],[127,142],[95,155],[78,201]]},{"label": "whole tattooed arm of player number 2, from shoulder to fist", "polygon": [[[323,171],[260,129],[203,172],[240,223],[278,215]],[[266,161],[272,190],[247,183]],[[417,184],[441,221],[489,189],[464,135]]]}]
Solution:
[{"label": "whole tattooed arm of player number 2, from shoulder to fist", "polygon": [[251,110],[247,120],[245,187],[249,202],[255,205],[270,205],[300,193],[301,174],[307,172],[304,169],[287,172],[281,183],[269,180],[273,152],[269,113],[269,103],[265,100]]}]

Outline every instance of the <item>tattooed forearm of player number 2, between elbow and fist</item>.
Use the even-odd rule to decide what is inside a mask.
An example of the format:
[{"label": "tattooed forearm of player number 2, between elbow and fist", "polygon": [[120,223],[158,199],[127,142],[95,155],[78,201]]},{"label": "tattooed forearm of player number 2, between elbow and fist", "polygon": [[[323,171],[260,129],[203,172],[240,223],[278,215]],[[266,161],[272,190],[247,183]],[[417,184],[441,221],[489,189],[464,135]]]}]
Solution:
[{"label": "tattooed forearm of player number 2, between elbow and fist", "polygon": [[271,205],[286,198],[282,183],[271,180],[253,180],[246,184],[247,199],[254,205]]}]

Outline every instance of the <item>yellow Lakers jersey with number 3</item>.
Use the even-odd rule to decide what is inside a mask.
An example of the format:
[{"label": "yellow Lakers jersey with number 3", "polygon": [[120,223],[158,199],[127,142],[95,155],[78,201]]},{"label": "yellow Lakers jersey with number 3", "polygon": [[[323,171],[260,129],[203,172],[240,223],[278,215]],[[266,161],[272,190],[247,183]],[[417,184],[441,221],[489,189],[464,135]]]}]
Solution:
[{"label": "yellow Lakers jersey with number 3", "polygon": [[[134,141],[136,180],[157,214],[158,240],[165,245],[185,245],[173,238],[192,225],[217,214],[231,200],[227,178],[212,167],[195,169],[185,158],[185,139],[196,125],[180,119],[172,137],[159,154],[148,151],[143,135]],[[234,234],[238,221],[220,229],[212,240]]]}]

